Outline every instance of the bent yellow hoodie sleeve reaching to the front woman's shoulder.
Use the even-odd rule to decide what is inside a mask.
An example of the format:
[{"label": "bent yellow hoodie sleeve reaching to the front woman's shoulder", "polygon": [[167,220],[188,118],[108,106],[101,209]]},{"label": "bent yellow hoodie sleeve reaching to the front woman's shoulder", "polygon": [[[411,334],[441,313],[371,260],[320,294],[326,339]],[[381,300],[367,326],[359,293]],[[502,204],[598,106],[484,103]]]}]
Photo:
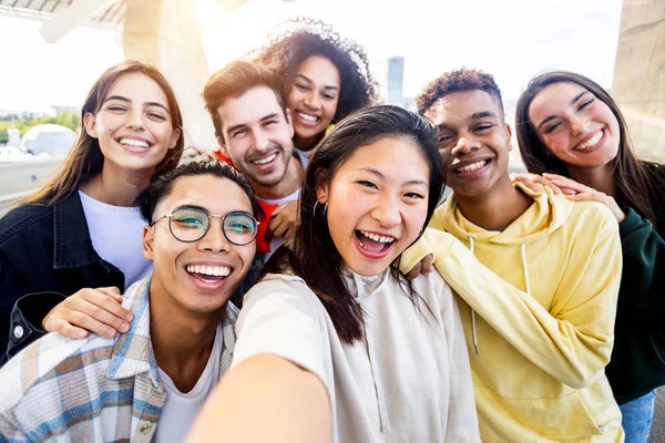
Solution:
[{"label": "bent yellow hoodie sleeve reaching to the front woman's shoulder", "polygon": [[545,309],[483,266],[462,244],[436,262],[464,301],[531,362],[574,389],[592,383],[610,360],[621,278],[621,244],[610,212],[593,235],[579,235],[587,255],[566,261],[553,306]]}]

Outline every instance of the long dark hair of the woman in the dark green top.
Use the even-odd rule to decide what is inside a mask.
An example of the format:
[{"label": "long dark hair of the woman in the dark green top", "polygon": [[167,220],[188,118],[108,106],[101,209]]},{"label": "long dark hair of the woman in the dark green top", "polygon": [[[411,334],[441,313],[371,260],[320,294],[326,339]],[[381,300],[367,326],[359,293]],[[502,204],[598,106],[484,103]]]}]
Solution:
[{"label": "long dark hair of the woman in the dark green top", "polygon": [[616,202],[620,206],[634,208],[655,225],[657,208],[654,207],[652,198],[655,198],[656,202],[663,200],[663,196],[653,194],[653,192],[662,193],[659,190],[663,188],[662,184],[658,183],[656,186],[654,183],[654,181],[661,182],[661,179],[657,174],[652,172],[652,164],[640,161],[635,156],[628,126],[614,100],[603,87],[584,75],[565,71],[541,74],[529,82],[526,91],[518,100],[515,128],[520,154],[526,169],[534,174],[554,173],[566,177],[571,176],[566,163],[559,159],[541,142],[533,122],[529,119],[529,106],[531,106],[533,99],[549,85],[562,82],[584,87],[605,103],[616,117],[620,128],[618,153],[610,162],[612,179],[616,185]]}]

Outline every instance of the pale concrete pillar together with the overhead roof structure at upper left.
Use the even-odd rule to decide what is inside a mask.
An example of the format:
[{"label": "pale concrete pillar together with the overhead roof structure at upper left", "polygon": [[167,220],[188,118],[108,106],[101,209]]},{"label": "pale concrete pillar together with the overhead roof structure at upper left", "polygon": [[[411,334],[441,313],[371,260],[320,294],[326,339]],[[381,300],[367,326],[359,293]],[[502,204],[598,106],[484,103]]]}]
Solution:
[{"label": "pale concrete pillar together with the overhead roof structure at upper left", "polygon": [[124,58],[153,64],[173,86],[184,117],[185,147],[211,150],[217,142],[201,99],[209,76],[201,21],[222,21],[246,1],[0,0],[0,13],[43,20],[40,32],[51,43],[80,25],[116,29]]}]

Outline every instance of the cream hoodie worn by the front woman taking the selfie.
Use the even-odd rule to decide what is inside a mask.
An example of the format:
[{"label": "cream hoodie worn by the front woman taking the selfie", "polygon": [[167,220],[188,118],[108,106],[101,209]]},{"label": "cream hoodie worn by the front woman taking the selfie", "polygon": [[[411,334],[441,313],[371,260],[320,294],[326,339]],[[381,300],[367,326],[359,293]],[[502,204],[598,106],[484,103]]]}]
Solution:
[{"label": "cream hoodie worn by the front woman taking the selfie", "polygon": [[335,442],[480,442],[450,287],[438,272],[418,277],[416,306],[390,272],[346,279],[365,312],[364,339],[342,343],[300,278],[268,275],[245,296],[232,365],[273,353],[315,373],[331,400]]}]

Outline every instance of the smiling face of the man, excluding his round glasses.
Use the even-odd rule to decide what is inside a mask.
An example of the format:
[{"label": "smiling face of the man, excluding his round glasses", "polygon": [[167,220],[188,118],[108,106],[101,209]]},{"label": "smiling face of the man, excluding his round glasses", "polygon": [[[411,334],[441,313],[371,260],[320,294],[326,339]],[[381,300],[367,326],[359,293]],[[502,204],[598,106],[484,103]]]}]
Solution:
[{"label": "smiling face of the man, excluding his round glasses", "polygon": [[[155,208],[153,220],[182,207],[204,208],[213,215],[252,214],[243,189],[213,175],[176,178],[171,194]],[[203,238],[192,243],[176,239],[168,218],[163,218],[145,228],[143,243],[146,258],[154,260],[151,297],[171,305],[175,312],[209,313],[223,307],[245,278],[256,251],[255,241],[244,246],[228,241],[219,217],[211,218]]]}]

